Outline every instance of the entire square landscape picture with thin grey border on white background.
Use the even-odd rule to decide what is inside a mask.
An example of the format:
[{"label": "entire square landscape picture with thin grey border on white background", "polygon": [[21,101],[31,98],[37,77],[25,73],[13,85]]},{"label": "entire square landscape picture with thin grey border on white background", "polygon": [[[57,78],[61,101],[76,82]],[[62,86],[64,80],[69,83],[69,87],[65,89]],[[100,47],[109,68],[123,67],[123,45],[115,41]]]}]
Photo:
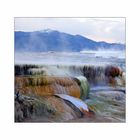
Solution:
[{"label": "entire square landscape picture with thin grey border on white background", "polygon": [[125,17],[15,17],[15,122],[126,121]]}]

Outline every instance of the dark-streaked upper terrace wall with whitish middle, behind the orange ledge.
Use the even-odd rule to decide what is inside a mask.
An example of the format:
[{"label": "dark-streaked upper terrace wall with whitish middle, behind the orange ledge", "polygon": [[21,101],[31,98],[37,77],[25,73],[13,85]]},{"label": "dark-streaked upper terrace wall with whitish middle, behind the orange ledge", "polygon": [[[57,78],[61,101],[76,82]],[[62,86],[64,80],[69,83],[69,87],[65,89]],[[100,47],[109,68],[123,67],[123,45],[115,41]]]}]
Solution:
[{"label": "dark-streaked upper terrace wall with whitish middle, behind the orange ledge", "polygon": [[[118,66],[61,66],[16,65],[16,75],[48,75],[60,77],[86,77],[91,86],[123,84],[124,72]],[[122,82],[122,83],[121,83]]]}]

